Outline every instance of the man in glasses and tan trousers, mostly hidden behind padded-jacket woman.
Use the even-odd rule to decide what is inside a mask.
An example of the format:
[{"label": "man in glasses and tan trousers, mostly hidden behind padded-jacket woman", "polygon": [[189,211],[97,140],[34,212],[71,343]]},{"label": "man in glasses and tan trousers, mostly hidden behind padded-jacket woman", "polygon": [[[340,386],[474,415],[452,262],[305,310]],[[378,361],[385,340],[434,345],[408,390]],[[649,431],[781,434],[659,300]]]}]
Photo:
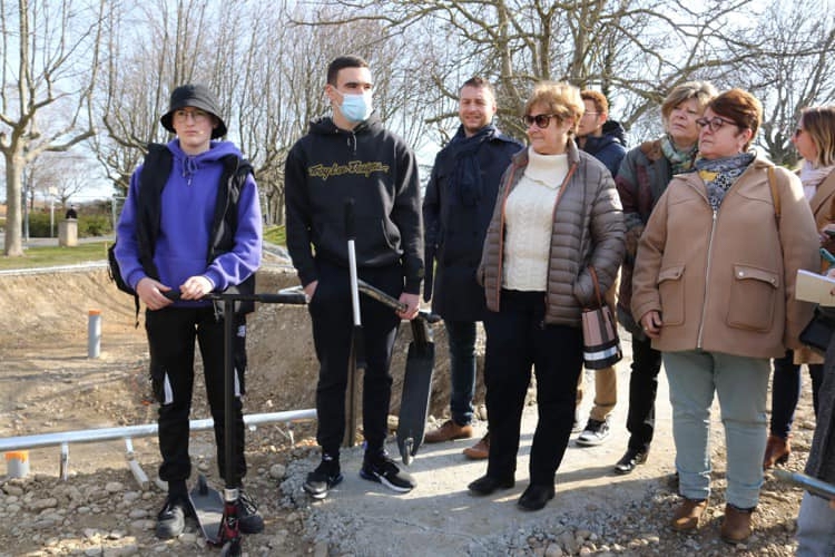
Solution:
[{"label": "man in glasses and tan trousers, mostly hidden behind padded-jacket woman", "polygon": [[[620,163],[626,155],[626,133],[620,124],[609,119],[609,101],[600,91],[583,90],[580,92],[586,113],[577,130],[579,147],[606,165],[612,177],[617,176]],[[615,292],[617,284],[606,293],[606,302],[615,311]],[[582,373],[577,388],[577,405],[582,402]],[[609,417],[618,400],[618,375],[615,367],[595,371],[595,403],[589,412],[577,444],[593,447],[609,437]],[[576,426],[579,426],[577,423]]]}]

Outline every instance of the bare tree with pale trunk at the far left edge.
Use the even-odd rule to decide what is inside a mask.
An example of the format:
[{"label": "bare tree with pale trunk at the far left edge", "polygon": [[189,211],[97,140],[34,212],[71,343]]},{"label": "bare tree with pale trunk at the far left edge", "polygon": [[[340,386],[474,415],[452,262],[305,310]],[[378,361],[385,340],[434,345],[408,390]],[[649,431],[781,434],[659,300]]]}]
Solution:
[{"label": "bare tree with pale trunk at the far left edge", "polygon": [[[98,3],[97,3],[98,1]],[[21,177],[45,152],[65,152],[92,136],[90,92],[98,70],[105,0],[0,0],[6,61],[0,74],[0,153],[8,203],[3,253],[23,254]]]}]

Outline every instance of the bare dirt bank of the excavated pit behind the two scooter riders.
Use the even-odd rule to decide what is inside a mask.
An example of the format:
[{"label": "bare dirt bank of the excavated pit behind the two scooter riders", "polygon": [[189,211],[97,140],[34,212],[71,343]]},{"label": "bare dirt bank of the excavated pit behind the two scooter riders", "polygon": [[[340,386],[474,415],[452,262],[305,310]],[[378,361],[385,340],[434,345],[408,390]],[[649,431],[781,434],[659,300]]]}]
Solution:
[{"label": "bare dirt bank of the excavated pit behind the two scooter riders", "polygon": [[[296,284],[295,273],[278,267],[265,268],[257,276],[259,292]],[[101,312],[98,359],[87,358],[90,310]],[[0,377],[0,414],[22,414],[11,420],[11,434],[45,432],[45,427],[59,431],[154,420],[148,408],[143,315],[139,328],[135,328],[132,297],[116,290],[104,267],[0,276],[0,317],[6,360],[6,373]],[[247,413],[314,408],[318,364],[307,310],[261,304],[248,325]],[[433,412],[440,414],[449,401],[449,358],[441,349],[445,348],[443,326],[434,329],[439,350],[432,399]],[[392,363],[393,413],[400,408],[410,340],[410,328],[404,325]],[[79,399],[78,393],[88,395]],[[42,404],[52,409],[53,419],[47,421],[50,426],[36,416],[43,416]],[[90,405],[87,410],[86,404]],[[203,387],[198,384],[193,417],[207,416]]]}]

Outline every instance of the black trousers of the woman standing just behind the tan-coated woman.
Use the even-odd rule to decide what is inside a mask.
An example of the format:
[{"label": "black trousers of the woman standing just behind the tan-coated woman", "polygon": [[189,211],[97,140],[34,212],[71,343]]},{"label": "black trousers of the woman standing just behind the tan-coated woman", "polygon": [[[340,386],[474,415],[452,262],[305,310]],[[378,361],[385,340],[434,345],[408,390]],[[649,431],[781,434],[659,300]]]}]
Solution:
[{"label": "black trousers of the woman standing just behind the tan-coated woman", "polygon": [[632,368],[629,374],[629,448],[648,451],[656,427],[656,393],[661,353],[647,338],[632,335]]}]

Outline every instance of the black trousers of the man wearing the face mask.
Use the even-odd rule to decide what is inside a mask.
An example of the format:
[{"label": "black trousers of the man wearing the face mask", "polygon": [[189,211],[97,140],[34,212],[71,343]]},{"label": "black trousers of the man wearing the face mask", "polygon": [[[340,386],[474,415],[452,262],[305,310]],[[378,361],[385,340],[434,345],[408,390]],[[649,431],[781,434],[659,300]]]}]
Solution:
[{"label": "black trousers of the man wearing the face mask", "polygon": [[[345,391],[348,356],[354,330],[351,276],[340,267],[318,258],[318,285],[307,309],[313,322],[313,342],[320,362],[316,385],[316,441],[322,450],[338,456],[345,434]],[[399,297],[403,292],[400,265],[361,268],[360,278]],[[383,450],[389,433],[389,403],[392,375],[389,372],[400,317],[382,303],[360,294],[360,313],[367,367],[363,374],[363,433],[366,452]]]}]

